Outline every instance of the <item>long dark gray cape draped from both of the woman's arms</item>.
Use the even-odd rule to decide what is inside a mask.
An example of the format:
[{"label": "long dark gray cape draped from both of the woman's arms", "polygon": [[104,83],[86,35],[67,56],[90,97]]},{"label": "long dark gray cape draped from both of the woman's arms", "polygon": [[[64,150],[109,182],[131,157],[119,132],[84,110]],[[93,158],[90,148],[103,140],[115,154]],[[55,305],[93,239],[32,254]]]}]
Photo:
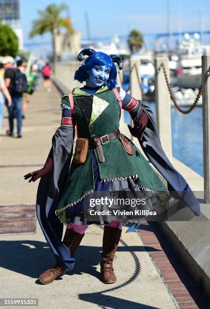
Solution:
[{"label": "long dark gray cape draped from both of the woman's arms", "polygon": [[[197,216],[200,215],[200,207],[197,199],[191,191],[185,179],[177,172],[168,160],[158,137],[155,117],[148,106],[141,104],[136,111],[136,118],[145,112],[149,121],[145,129],[143,139],[139,139],[143,151],[154,167],[167,180],[168,189],[177,191],[189,208]],[[52,138],[53,170],[40,179],[36,214],[56,262],[66,270],[72,270],[75,259],[71,252],[62,243],[63,224],[55,216],[59,193],[64,187],[72,158],[74,128],[59,127]]]}]

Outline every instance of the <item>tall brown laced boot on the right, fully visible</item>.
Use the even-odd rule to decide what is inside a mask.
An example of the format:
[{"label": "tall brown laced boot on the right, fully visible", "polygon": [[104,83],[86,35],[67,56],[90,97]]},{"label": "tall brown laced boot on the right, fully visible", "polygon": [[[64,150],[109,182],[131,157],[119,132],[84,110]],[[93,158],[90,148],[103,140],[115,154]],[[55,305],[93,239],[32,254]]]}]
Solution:
[{"label": "tall brown laced boot on the right, fully visible", "polygon": [[112,263],[114,260],[114,253],[116,252],[120,240],[121,232],[122,230],[119,230],[118,228],[112,228],[106,225],[104,226],[103,252],[101,253],[102,261],[100,266],[102,282],[106,284],[115,283],[117,281]]}]

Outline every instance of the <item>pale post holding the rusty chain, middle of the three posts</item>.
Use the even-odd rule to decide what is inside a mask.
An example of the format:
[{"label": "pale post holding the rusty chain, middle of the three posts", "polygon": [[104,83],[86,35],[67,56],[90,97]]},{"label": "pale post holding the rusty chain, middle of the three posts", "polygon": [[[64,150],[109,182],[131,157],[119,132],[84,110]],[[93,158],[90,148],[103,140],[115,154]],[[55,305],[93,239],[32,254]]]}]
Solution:
[{"label": "pale post holding the rusty chain, middle of the three posts", "polygon": [[172,138],[171,138],[171,102],[170,94],[166,85],[163,68],[169,78],[168,58],[158,57],[155,59],[155,102],[158,133],[162,147],[169,160],[172,160]]}]

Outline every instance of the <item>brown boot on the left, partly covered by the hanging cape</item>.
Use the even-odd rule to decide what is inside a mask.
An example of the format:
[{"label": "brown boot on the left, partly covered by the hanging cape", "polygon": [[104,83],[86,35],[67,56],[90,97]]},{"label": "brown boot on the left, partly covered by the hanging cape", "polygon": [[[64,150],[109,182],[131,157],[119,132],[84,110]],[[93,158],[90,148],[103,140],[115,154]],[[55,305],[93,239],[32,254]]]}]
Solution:
[{"label": "brown boot on the left, partly covered by the hanging cape", "polygon": [[[77,248],[79,247],[84,234],[78,234],[74,232],[72,229],[67,229],[65,231],[65,235],[63,237],[63,243],[66,245],[66,247],[71,251],[72,255],[75,254]],[[46,270],[44,273],[42,273],[39,276],[39,280],[42,284],[48,284],[51,283],[57,278],[58,276],[63,275],[66,272],[66,270],[59,265],[55,264],[52,268]]]}]

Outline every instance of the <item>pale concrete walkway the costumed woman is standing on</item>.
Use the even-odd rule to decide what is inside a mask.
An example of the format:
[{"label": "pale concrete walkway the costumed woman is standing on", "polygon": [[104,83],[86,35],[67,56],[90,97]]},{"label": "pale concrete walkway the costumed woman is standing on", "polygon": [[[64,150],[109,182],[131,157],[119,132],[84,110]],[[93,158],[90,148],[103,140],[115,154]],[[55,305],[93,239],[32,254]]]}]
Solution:
[{"label": "pale concrete walkway the costumed woman is standing on", "polygon": [[[29,184],[23,175],[39,169],[47,158],[60,124],[59,102],[56,89],[48,93],[41,84],[30,97],[23,138],[1,136],[0,204],[35,203],[38,182]],[[114,261],[117,282],[108,286],[100,281],[102,227],[88,228],[74,270],[49,285],[37,279],[54,264],[38,222],[35,234],[0,235],[1,298],[38,298],[39,307],[47,308],[175,308],[141,239],[126,229]]]}]

